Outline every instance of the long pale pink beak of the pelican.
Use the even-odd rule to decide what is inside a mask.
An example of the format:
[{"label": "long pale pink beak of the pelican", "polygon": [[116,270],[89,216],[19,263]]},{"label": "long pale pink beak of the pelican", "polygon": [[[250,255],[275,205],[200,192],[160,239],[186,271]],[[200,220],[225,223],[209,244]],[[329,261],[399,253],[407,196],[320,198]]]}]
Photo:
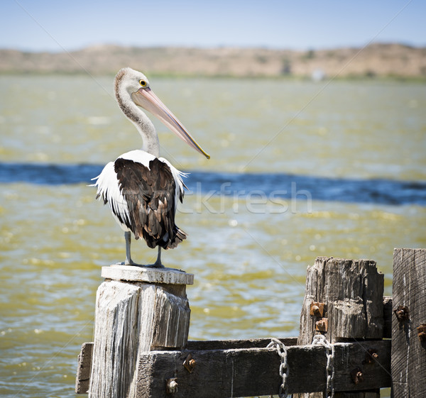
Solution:
[{"label": "long pale pink beak of the pelican", "polygon": [[150,88],[141,88],[137,92],[131,94],[131,99],[133,102],[141,106],[143,109],[151,112],[154,116],[160,119],[165,126],[170,128],[176,136],[182,138],[188,145],[202,153],[207,159],[210,158],[208,153],[205,153],[204,150],[198,145],[194,138],[191,137],[187,129],[178,121],[175,115],[168,110],[168,107],[163,104],[163,102],[156,96]]}]

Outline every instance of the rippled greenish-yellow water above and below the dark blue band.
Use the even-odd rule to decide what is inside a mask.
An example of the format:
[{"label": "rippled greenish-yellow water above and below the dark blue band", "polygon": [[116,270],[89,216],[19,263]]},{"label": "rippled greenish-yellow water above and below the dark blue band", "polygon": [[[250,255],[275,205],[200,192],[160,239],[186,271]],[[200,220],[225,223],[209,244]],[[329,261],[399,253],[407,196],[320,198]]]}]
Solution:
[{"label": "rippled greenish-yellow water above and below the dark blue band", "polygon": [[[181,170],[426,180],[426,90],[398,82],[157,79],[154,91],[212,155],[163,126]],[[141,146],[111,77],[0,77],[0,161],[105,164]],[[190,338],[296,336],[307,265],[371,258],[391,294],[395,247],[426,247],[426,208],[188,195],[189,238],[163,255],[195,274]],[[288,211],[282,212],[283,204]],[[85,184],[0,186],[0,396],[75,397],[80,345],[92,341],[100,267],[124,238]],[[133,258],[155,250],[133,244]]]}]

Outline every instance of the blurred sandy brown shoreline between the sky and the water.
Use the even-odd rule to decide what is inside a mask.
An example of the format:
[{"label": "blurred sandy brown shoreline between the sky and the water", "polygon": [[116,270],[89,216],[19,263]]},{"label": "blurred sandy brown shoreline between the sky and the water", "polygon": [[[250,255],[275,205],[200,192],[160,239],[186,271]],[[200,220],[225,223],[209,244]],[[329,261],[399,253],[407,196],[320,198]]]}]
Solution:
[{"label": "blurred sandy brown shoreline between the sky and the water", "polygon": [[163,77],[426,80],[426,48],[373,43],[365,48],[135,48],[98,45],[73,52],[0,49],[0,74],[115,74],[130,66]]}]

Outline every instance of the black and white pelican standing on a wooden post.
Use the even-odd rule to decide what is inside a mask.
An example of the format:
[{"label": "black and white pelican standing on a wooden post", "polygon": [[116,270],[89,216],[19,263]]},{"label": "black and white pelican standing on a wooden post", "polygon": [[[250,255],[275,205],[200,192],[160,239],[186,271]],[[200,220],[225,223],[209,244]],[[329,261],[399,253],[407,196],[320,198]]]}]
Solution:
[{"label": "black and white pelican standing on a wooden post", "polygon": [[[109,204],[112,215],[124,231],[126,260],[121,264],[138,265],[131,259],[131,234],[143,238],[149,248],[158,247],[157,260],[147,267],[163,267],[161,248],[175,248],[187,235],[175,224],[178,200],[182,202],[185,173],[175,169],[160,156],[160,143],[153,123],[141,110],[156,116],[178,137],[202,153],[178,118],[169,111],[151,90],[146,76],[129,67],[116,74],[114,93],[121,111],[136,126],[141,134],[141,150],[131,150],[109,162],[96,182],[96,199]],[[141,108],[139,108],[139,106]],[[186,188],[186,187],[185,187]]]}]

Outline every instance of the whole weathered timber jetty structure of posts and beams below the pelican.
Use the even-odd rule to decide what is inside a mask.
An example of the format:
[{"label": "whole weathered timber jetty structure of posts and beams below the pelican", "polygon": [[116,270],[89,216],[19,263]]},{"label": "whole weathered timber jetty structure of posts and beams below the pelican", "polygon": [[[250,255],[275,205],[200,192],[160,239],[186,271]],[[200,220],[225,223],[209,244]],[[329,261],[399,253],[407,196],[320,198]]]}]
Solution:
[{"label": "whole weathered timber jetty structure of posts and beams below the pelican", "polygon": [[[426,397],[426,249],[395,249],[393,297],[372,260],[317,258],[297,338],[187,341],[193,275],[112,265],[76,392],[92,398]],[[314,336],[320,344],[312,344]],[[281,344],[283,343],[283,344]],[[283,347],[283,345],[285,347]]]}]

